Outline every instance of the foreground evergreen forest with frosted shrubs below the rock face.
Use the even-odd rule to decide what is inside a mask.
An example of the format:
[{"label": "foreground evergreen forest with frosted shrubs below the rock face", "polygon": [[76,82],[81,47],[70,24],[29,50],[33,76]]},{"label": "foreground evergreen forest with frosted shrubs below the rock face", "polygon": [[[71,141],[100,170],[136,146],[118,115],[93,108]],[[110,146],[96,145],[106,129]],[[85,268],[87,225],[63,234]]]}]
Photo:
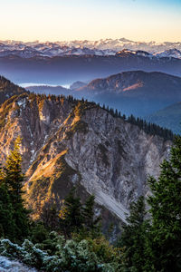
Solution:
[{"label": "foreground evergreen forest with frosted shrubs below the rock face", "polygon": [[[181,270],[181,137],[158,180],[149,177],[151,194],[130,205],[128,224],[110,243],[102,234],[94,197],[84,203],[76,188],[61,209],[47,203],[33,221],[23,199],[21,140],[0,171],[0,255],[14,257],[43,271],[180,271]],[[146,207],[148,207],[146,209]]]}]

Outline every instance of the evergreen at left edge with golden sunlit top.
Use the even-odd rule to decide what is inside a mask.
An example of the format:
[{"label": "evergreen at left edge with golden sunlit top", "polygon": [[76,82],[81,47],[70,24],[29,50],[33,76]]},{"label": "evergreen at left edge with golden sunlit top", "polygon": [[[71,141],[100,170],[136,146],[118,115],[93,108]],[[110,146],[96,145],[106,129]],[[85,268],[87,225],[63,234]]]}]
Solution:
[{"label": "evergreen at left edge with golden sunlit top", "polygon": [[[22,240],[29,233],[29,211],[24,208],[22,157],[20,154],[21,139],[14,141],[14,149],[7,157],[5,166],[0,172],[0,206],[1,228],[4,236],[13,240]],[[7,209],[5,209],[5,205]],[[6,219],[4,211],[7,211]],[[12,226],[11,226],[12,225]]]}]

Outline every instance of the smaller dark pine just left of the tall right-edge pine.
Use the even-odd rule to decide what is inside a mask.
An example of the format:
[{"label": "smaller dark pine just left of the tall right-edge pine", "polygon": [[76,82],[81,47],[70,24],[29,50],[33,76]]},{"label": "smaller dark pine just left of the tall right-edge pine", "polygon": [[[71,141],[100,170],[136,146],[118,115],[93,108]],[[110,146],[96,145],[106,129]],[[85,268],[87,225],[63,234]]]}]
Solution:
[{"label": "smaller dark pine just left of the tall right-edge pine", "polygon": [[148,221],[145,219],[145,216],[145,202],[141,196],[138,202],[133,202],[130,205],[130,215],[127,219],[128,225],[123,227],[123,232],[119,240],[119,247],[123,248],[122,268],[125,271],[146,271],[144,266],[147,258],[146,235]]}]

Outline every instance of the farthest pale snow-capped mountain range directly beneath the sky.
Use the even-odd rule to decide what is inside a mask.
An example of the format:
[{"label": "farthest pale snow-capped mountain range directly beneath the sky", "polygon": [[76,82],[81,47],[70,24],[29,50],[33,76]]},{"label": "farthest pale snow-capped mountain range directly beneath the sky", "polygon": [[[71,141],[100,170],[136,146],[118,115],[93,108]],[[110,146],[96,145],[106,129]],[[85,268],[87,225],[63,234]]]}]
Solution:
[{"label": "farthest pale snow-capped mountain range directly beneath the sky", "polygon": [[[44,55],[61,55],[61,54],[72,54],[72,53],[87,53],[87,54],[114,54],[125,48],[133,51],[145,51],[148,53],[162,53],[164,51],[181,50],[181,43],[156,43],[156,42],[134,42],[125,38],[120,39],[101,39],[100,41],[70,41],[70,42],[18,42],[18,41],[1,41],[0,53],[8,51],[16,51],[24,55],[44,54]],[[17,52],[19,51],[19,52]]]}]

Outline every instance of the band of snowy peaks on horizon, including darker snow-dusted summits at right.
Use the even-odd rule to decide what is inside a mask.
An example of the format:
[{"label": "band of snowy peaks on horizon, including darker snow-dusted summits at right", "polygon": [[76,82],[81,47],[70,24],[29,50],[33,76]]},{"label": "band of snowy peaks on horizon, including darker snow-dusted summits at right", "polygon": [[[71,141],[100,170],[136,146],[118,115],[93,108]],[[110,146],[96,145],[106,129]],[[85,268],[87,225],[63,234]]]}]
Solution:
[{"label": "band of snowy peaks on horizon, including darker snow-dusted summits at right", "polygon": [[[129,50],[125,50],[129,48]],[[123,52],[124,51],[124,52]],[[38,41],[23,43],[17,41],[0,41],[0,57],[17,55],[23,58],[38,56],[63,55],[115,55],[116,53],[137,54],[145,57],[174,57],[181,58],[181,42],[156,43],[134,42],[125,38],[105,39],[99,41],[69,41],[56,43],[39,43]]]}]

